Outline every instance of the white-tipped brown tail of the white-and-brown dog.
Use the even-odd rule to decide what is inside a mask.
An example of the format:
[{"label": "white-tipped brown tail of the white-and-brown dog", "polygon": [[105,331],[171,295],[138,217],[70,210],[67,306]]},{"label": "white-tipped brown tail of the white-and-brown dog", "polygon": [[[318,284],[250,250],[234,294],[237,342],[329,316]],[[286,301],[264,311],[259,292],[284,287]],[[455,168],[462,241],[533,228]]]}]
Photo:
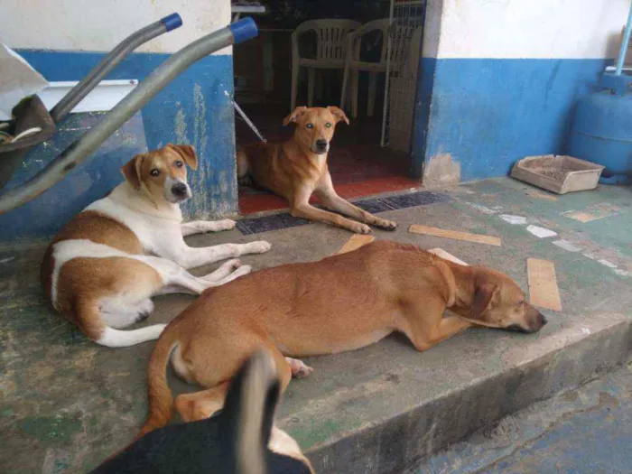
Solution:
[{"label": "white-tipped brown tail of the white-and-brown dog", "polygon": [[158,339],[166,324],[153,324],[138,330],[116,330],[103,321],[98,302],[80,298],[73,308],[77,325],[88,338],[108,348],[126,348],[147,340]]}]

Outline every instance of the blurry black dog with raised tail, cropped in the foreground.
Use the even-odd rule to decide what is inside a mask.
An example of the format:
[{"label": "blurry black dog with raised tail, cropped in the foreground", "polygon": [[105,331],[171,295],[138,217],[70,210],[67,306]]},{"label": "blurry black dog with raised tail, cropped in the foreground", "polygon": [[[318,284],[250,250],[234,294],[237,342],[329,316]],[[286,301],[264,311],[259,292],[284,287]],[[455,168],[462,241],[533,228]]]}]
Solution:
[{"label": "blurry black dog with raised tail, cropped in the foreground", "polygon": [[92,474],[313,474],[296,441],[273,424],[279,395],[273,359],[256,352],[237,372],[219,414],[150,432]]}]

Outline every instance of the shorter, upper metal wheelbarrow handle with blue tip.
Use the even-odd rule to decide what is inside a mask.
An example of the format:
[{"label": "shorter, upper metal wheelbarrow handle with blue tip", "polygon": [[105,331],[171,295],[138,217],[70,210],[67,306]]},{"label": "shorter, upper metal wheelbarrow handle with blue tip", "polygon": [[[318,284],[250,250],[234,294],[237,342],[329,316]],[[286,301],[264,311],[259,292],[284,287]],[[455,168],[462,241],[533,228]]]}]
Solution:
[{"label": "shorter, upper metal wheelbarrow handle with blue tip", "polygon": [[156,36],[180,28],[181,24],[182,19],[179,14],[170,14],[169,16],[165,16],[162,20],[145,26],[136,33],[130,34],[124,41],[119,42],[114,50],[110,51],[105,58],[99,61],[97,66],[88,72],[88,76],[81,79],[79,84],[71,88],[70,92],[61,98],[55,107],[52,107],[52,120],[56,124],[59,124],[61,120],[66,118],[66,116],[70,114],[70,111],[75,108],[93,88],[97,87],[101,79],[105,78],[122,60],[125,60],[130,52],[134,51],[141,44],[153,40]]}]

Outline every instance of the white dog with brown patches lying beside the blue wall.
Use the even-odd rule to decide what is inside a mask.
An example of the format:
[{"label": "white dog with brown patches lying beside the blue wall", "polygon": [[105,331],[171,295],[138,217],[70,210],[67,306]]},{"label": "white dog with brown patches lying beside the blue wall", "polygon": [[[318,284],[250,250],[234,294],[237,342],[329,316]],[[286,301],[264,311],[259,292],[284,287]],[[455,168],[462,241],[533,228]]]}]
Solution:
[{"label": "white dog with brown patches lying beside the blue wall", "polygon": [[136,155],[121,169],[125,181],[62,228],[44,255],[42,286],[52,306],[98,344],[157,339],[164,324],[120,328],[147,318],[154,295],[200,294],[251,271],[237,259],[200,278],[186,269],[270,249],[265,241],[187,246],[184,236],[235,227],[229,219],[181,223],[179,205],[191,197],[187,165],[196,170],[198,159],[185,144]]}]

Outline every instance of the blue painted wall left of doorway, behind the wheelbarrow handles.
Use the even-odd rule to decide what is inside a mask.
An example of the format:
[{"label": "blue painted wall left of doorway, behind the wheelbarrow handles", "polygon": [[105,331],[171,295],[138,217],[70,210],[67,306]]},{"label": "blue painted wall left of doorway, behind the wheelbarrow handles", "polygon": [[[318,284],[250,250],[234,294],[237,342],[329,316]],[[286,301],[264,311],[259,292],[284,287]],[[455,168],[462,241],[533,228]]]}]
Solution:
[{"label": "blue painted wall left of doorway, behind the wheelbarrow handles", "polygon": [[[78,80],[104,56],[95,52],[18,51],[48,80]],[[107,79],[143,80],[167,54],[135,53]],[[77,170],[26,206],[0,216],[0,240],[49,237],[90,202],[122,180],[119,168],[135,153],[168,143],[193,144],[200,167],[190,174],[193,199],[189,218],[212,218],[237,212],[235,120],[232,107],[232,57],[204,58],[174,79]],[[79,136],[98,114],[77,114],[62,124],[60,134],[25,161],[9,187],[19,185]],[[78,121],[79,120],[79,124]]]}]

